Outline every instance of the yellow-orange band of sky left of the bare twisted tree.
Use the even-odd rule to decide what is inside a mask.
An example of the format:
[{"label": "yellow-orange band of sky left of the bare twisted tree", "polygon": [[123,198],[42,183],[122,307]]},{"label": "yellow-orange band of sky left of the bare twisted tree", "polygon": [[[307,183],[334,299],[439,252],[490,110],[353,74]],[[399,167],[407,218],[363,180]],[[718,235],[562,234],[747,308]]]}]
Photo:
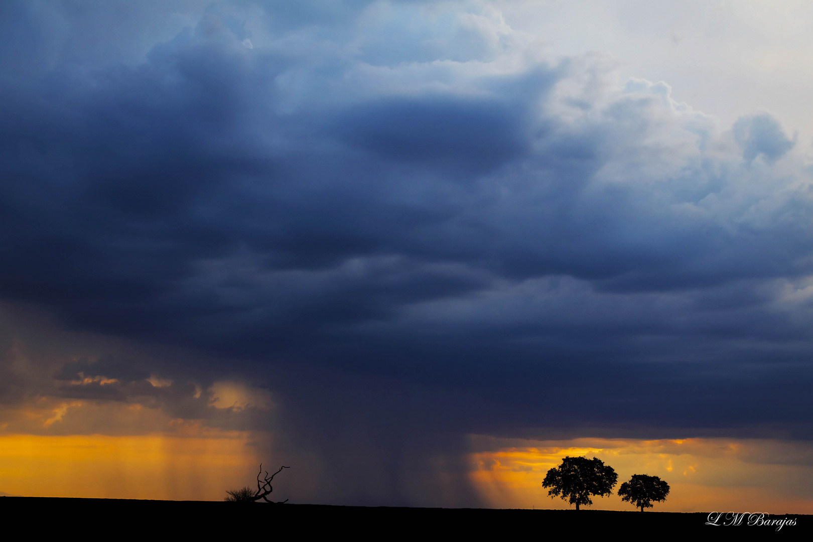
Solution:
[{"label": "yellow-orange band of sky left of the bare twisted tree", "polygon": [[20,496],[220,501],[262,460],[250,431],[207,436],[0,436],[0,491]]}]

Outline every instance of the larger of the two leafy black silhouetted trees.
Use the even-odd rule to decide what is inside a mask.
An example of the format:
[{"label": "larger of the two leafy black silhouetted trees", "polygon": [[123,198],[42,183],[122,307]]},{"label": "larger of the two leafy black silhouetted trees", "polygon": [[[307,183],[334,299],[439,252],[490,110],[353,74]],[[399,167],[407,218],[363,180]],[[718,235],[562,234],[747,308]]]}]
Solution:
[{"label": "larger of the two leafy black silhouetted trees", "polygon": [[550,488],[551,498],[561,496],[579,509],[593,504],[591,495],[610,495],[617,480],[615,470],[597,457],[564,457],[561,465],[548,470],[542,487]]}]

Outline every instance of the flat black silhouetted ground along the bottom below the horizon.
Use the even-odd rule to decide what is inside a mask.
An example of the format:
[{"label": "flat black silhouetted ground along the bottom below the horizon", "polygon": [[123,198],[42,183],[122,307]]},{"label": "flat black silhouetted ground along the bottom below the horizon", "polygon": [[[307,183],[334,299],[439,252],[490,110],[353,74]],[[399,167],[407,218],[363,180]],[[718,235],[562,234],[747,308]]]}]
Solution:
[{"label": "flat black silhouetted ground along the bottom below the horizon", "polygon": [[[608,510],[441,509],[328,505],[237,504],[217,501],[133,501],[0,497],[7,526],[30,525],[30,533],[79,532],[128,540],[172,536],[288,537],[325,535],[355,538],[472,536],[478,539],[533,538],[610,532],[711,535],[799,535],[811,533],[813,516],[791,518],[779,532],[771,526],[708,526],[708,513],[616,512]],[[291,539],[293,540],[293,539]],[[150,542],[152,542],[150,540]]]}]

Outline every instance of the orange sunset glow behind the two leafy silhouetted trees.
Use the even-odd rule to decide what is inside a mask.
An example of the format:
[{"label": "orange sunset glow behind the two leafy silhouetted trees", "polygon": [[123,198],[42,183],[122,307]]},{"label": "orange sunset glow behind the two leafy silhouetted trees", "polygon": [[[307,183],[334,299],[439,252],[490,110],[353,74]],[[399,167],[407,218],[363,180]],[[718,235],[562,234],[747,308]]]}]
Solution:
[{"label": "orange sunset glow behind the two leafy silhouetted trees", "polygon": [[[472,436],[476,444],[496,444]],[[655,475],[671,491],[654,511],[752,510],[813,513],[807,488],[813,479],[809,446],[770,440],[603,440],[528,441],[472,454],[472,483],[496,508],[559,509],[567,501],[550,498],[541,486],[548,469],[562,457],[598,457],[615,468],[620,483],[633,474]],[[615,490],[618,488],[616,487]],[[593,509],[629,509],[618,496],[593,497]]]}]

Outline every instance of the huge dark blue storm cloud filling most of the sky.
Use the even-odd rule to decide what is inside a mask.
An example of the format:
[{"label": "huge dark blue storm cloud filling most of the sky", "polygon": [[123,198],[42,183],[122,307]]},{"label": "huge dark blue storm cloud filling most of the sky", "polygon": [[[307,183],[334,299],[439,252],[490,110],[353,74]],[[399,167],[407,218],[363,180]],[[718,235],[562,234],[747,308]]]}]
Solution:
[{"label": "huge dark blue storm cloud filling most of the sky", "polygon": [[810,172],[767,113],[721,132],[454,23],[389,58],[346,30],[363,5],[258,5],[263,39],[210,7],[137,60],[163,8],[32,6],[0,15],[2,300],[243,371],[342,461],[361,434],[401,466],[467,433],[813,438]]}]

